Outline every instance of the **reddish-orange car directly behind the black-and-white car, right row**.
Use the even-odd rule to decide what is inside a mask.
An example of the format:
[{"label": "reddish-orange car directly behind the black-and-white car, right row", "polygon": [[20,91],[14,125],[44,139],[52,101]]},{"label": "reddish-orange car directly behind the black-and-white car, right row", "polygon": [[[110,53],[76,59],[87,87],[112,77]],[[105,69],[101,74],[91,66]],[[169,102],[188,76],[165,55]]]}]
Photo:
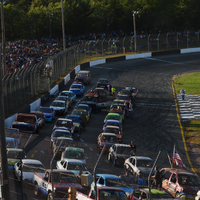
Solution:
[{"label": "reddish-orange car directly behind the black-and-white car, right row", "polygon": [[97,138],[98,152],[101,153],[105,146],[104,153],[108,153],[108,150],[113,144],[119,143],[117,136],[114,133],[101,133]]}]

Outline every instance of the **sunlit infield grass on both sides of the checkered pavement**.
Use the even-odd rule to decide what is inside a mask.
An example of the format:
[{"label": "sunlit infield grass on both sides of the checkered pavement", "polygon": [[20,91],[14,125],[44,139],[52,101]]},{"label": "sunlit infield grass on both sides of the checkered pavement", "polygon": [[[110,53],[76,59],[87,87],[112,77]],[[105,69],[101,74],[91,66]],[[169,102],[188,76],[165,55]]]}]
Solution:
[{"label": "sunlit infield grass on both sides of the checkered pavement", "polygon": [[[186,90],[186,94],[200,95],[200,73],[192,73],[183,75],[174,80],[175,92],[179,93],[182,88]],[[191,146],[200,149],[200,120],[192,120],[183,122],[185,130],[185,139],[187,141],[188,150]]]}]

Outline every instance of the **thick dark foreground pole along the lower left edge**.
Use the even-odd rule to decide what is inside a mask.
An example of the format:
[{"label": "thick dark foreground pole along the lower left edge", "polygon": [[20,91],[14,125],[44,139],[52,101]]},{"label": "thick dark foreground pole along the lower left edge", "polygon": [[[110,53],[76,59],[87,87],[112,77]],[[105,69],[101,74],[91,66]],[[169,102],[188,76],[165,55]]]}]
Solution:
[{"label": "thick dark foreground pole along the lower left edge", "polygon": [[[2,5],[1,1],[1,5]],[[0,56],[1,63],[1,56]],[[2,199],[10,200],[8,162],[6,153],[5,140],[5,113],[3,99],[3,81],[2,81],[2,66],[0,65],[0,179],[1,179],[1,195]]]}]

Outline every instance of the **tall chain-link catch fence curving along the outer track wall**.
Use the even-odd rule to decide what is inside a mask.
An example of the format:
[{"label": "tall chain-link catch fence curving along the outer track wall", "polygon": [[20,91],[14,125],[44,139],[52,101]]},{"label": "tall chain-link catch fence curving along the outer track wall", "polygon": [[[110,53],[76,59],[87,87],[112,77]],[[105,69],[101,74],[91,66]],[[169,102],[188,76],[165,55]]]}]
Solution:
[{"label": "tall chain-link catch fence curving along the outer track wall", "polygon": [[199,47],[199,44],[199,31],[141,34],[137,36],[137,49],[134,49],[133,36],[79,41],[77,45],[51,57],[48,60],[50,69],[45,68],[47,61],[44,61],[6,74],[3,77],[5,115],[19,111],[21,106],[28,105],[40,94],[48,92],[56,81],[78,64],[125,54]]}]

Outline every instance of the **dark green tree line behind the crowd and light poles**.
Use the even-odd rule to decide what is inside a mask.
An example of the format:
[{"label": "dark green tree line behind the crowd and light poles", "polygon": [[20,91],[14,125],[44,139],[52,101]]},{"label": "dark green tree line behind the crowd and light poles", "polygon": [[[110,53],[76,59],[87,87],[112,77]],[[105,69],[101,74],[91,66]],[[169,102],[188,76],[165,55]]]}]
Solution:
[{"label": "dark green tree line behind the crowd and light poles", "polygon": [[[199,0],[63,0],[65,34],[200,29]],[[62,37],[61,0],[4,1],[6,40]]]}]

